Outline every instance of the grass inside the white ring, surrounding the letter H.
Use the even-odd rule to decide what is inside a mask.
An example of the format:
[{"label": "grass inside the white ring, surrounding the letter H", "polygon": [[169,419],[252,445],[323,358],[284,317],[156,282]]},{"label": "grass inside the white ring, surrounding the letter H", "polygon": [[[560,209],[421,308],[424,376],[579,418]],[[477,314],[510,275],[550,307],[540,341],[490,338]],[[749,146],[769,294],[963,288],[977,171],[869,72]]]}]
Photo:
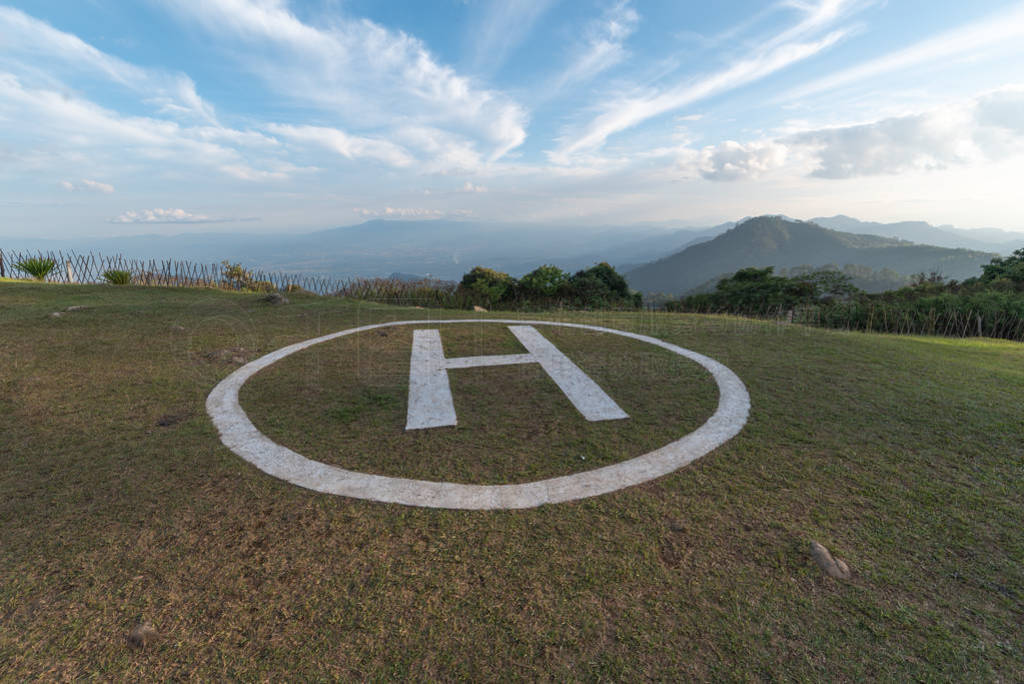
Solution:
[{"label": "grass inside the white ring, surrounding the letter H", "polygon": [[[696,364],[614,335],[539,326],[630,415],[588,423],[537,364],[450,372],[459,425],[407,432],[414,328],[313,346],[251,379],[241,400],[272,439],[325,463],[417,479],[501,484],[634,458],[699,427],[718,389]],[[508,328],[441,326],[447,357],[524,353]]]}]

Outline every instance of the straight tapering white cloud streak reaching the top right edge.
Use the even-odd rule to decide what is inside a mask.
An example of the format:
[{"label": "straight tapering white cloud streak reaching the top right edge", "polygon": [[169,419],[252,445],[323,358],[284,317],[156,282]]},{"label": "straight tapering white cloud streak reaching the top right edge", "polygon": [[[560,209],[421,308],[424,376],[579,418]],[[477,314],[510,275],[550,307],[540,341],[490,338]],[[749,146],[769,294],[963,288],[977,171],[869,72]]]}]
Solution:
[{"label": "straight tapering white cloud streak reaching the top right edge", "polygon": [[996,12],[980,22],[945,32],[882,57],[844,69],[805,83],[778,97],[788,101],[834,90],[858,81],[949,59],[961,54],[978,54],[1008,43],[1024,40],[1024,4]]}]

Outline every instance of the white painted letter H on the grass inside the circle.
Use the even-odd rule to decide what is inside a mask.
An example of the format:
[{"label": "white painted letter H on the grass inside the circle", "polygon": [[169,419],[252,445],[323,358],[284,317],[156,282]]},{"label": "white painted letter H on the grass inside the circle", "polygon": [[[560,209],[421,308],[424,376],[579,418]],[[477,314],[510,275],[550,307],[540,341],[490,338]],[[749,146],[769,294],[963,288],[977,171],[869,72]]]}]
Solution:
[{"label": "white painted letter H on the grass inside the circle", "polygon": [[588,421],[629,418],[596,382],[536,328],[509,326],[509,330],[529,353],[445,358],[440,331],[414,330],[406,429],[422,430],[458,424],[449,384],[450,370],[513,364],[540,364]]}]

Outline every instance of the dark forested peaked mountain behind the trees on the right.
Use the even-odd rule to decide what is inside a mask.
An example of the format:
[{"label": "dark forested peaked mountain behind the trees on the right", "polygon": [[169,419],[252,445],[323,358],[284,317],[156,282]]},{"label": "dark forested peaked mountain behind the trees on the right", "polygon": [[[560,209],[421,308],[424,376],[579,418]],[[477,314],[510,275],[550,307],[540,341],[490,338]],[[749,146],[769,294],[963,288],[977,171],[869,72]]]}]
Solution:
[{"label": "dark forested peaked mountain behind the trees on the right", "polygon": [[908,275],[937,271],[964,280],[981,272],[991,252],[914,245],[880,236],[854,234],[809,221],[759,216],[708,242],[692,245],[626,273],[645,293],[683,294],[708,281],[746,266],[794,267],[857,264]]}]

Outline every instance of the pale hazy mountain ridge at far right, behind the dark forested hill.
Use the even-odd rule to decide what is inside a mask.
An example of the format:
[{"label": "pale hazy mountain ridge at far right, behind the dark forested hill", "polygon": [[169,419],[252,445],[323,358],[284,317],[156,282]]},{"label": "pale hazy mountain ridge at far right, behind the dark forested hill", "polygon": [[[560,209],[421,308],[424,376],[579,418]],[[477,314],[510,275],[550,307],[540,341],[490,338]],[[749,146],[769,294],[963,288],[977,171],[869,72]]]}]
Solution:
[{"label": "pale hazy mountain ridge at far right, behind the dark forested hill", "polygon": [[998,252],[1002,255],[1009,255],[1014,250],[1024,247],[1024,232],[1012,232],[998,228],[966,230],[951,225],[935,226],[925,221],[877,223],[874,221],[860,221],[843,214],[812,218],[811,222],[844,232],[866,232],[872,236],[908,240],[921,245]]}]

